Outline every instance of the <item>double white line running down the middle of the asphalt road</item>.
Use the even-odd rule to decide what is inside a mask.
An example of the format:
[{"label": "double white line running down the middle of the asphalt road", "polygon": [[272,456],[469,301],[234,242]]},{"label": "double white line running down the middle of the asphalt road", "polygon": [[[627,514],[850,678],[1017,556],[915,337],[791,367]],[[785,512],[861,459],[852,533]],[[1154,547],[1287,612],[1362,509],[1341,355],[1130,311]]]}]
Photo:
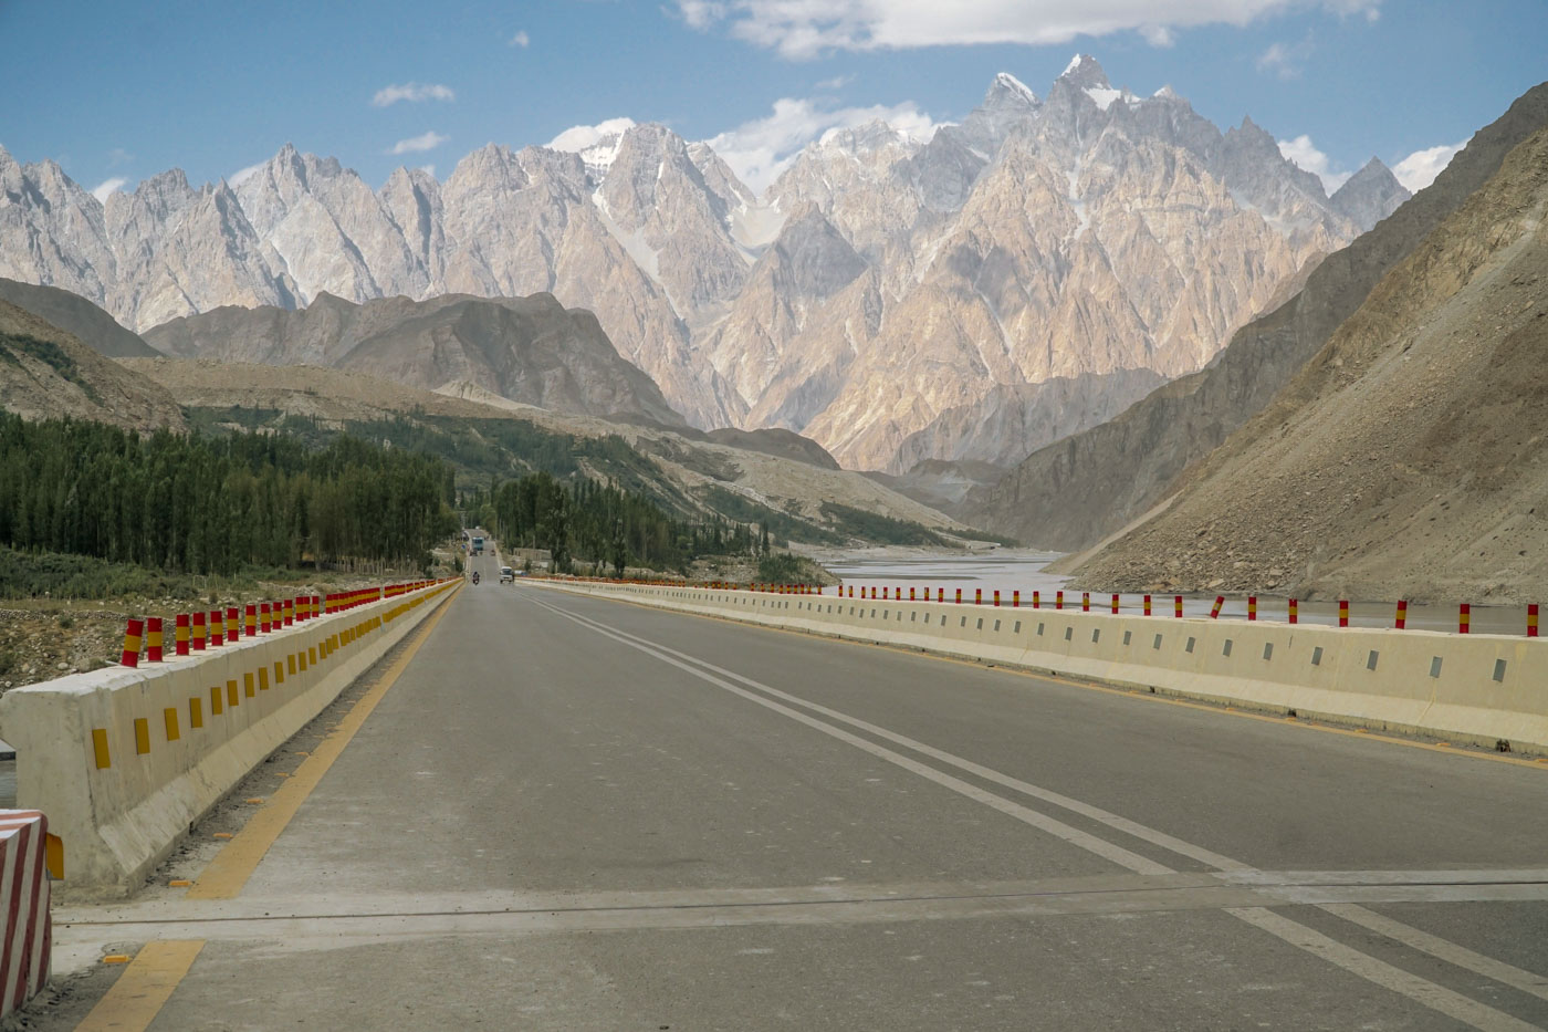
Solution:
[{"label": "double white line running down the middle of the asphalt road", "polygon": [[[701,660],[695,655],[680,652],[673,648],[661,645],[659,642],[650,642],[649,638],[628,634],[618,628],[604,624],[598,620],[591,620],[590,617],[582,617],[568,609],[553,606],[546,601],[539,601],[536,598],[533,598],[531,601],[556,615],[560,615],[567,620],[573,620],[574,623],[588,628],[596,634],[611,638],[619,645],[638,649],[656,660],[661,660],[663,663],[675,666],[683,673],[697,677],[698,680],[703,680],[717,688],[729,691],[734,696],[740,696],[741,699],[746,699],[748,702],[760,705],[766,710],[772,710],[780,716],[789,717],[791,721],[803,724],[830,738],[836,738],[841,742],[853,745],[854,748],[859,748],[878,759],[890,762],[896,767],[902,767],[904,770],[915,773],[921,778],[926,778],[944,789],[950,789],[952,792],[957,792],[958,795],[974,800],[975,803],[981,803],[991,809],[995,809],[1005,814],[1006,817],[1019,820],[1042,832],[1054,835],[1056,838],[1062,838],[1063,841],[1073,846],[1079,846],[1081,849],[1096,854],[1104,860],[1108,860],[1110,863],[1115,863],[1127,871],[1133,871],[1136,874],[1173,874],[1175,868],[1169,868],[1149,857],[1142,857],[1130,849],[1124,849],[1122,846],[1108,841],[1107,838],[1081,831],[1079,827],[1073,827],[1071,824],[1067,824],[1057,820],[1056,817],[1050,817],[1048,814],[1036,810],[1029,806],[1025,806],[1014,800],[1008,800],[1002,795],[981,789],[969,781],[963,781],[961,778],[946,773],[937,767],[923,764],[918,759],[913,759],[912,756],[906,756],[904,753],[887,748],[885,745],[879,745],[878,742],[870,741],[868,738],[861,738],[859,734],[854,734],[853,731],[844,730],[844,727],[837,725],[847,725],[850,728],[864,731],[865,734],[870,734],[873,738],[892,742],[895,745],[901,745],[920,756],[927,756],[929,759],[943,764],[946,767],[952,767],[958,772],[969,773],[981,781],[988,781],[991,784],[1009,789],[1017,795],[1039,800],[1042,803],[1050,803],[1063,810],[1068,810],[1071,814],[1079,814],[1081,817],[1085,817],[1094,823],[1111,827],[1113,831],[1119,831],[1125,835],[1150,843],[1152,846],[1166,849],[1167,852],[1187,857],[1190,860],[1197,860],[1211,868],[1212,871],[1220,871],[1226,874],[1228,879],[1232,882],[1251,883],[1255,879],[1255,875],[1260,874],[1255,868],[1240,860],[1234,860],[1211,849],[1204,849],[1203,846],[1195,846],[1194,843],[1183,841],[1181,838],[1167,835],[1166,832],[1156,831],[1153,827],[1147,827],[1146,824],[1139,824],[1125,817],[1119,817],[1118,814],[1110,814],[1108,810],[1099,809],[1088,803],[1082,803],[1059,792],[1053,792],[1050,789],[1029,784],[1026,781],[1022,781],[1020,778],[1012,778],[1009,775],[1000,773],[998,770],[992,770],[981,764],[975,764],[971,759],[955,756],[952,753],[943,752],[932,745],[926,745],[924,742],[915,741],[904,734],[889,731],[887,728],[878,727],[867,721],[861,721],[845,713],[839,713],[837,710],[831,710],[828,707],[808,702],[797,696],[780,691],[779,688],[765,685],[763,682],[745,677],[723,666],[717,666],[707,660]],[[800,707],[800,710],[796,710],[793,707]],[[819,714],[820,717],[825,719],[819,719],[819,716],[813,714]],[[1390,989],[1392,992],[1401,993],[1420,1004],[1424,1004],[1426,1007],[1438,1010],[1447,1015],[1449,1018],[1469,1024],[1475,1029],[1483,1029],[1486,1032],[1529,1032],[1531,1029],[1537,1029],[1537,1026],[1514,1018],[1505,1013],[1503,1010],[1497,1010],[1494,1007],[1481,1004],[1477,999],[1472,999],[1471,996],[1463,996],[1461,993],[1446,989],[1444,986],[1420,978],[1418,975],[1404,972],[1402,968],[1393,967],[1392,964],[1387,964],[1385,961],[1373,958],[1367,953],[1361,953],[1353,947],[1348,947],[1336,939],[1331,939],[1322,934],[1320,931],[1316,931],[1314,928],[1310,928],[1297,920],[1291,920],[1289,917],[1277,914],[1265,906],[1228,906],[1223,910],[1232,917],[1245,920],[1246,924],[1255,928],[1262,928],[1263,931],[1268,931],[1269,934],[1283,939],[1285,942],[1294,947],[1307,950],[1308,953],[1313,953],[1328,961],[1330,964],[1336,964],[1337,967],[1342,967],[1344,970],[1353,975],[1358,975],[1370,982],[1375,982],[1382,989]],[[1542,975],[1534,975],[1519,967],[1505,964],[1503,961],[1495,961],[1494,958],[1457,945],[1454,942],[1441,939],[1440,936],[1433,936],[1427,931],[1412,928],[1409,925],[1404,925],[1402,922],[1378,914],[1358,903],[1324,903],[1320,905],[1320,910],[1334,914],[1344,920],[1348,920],[1351,924],[1368,928],[1370,931],[1376,931],[1378,934],[1401,942],[1402,945],[1407,945],[1413,950],[1420,950],[1421,953],[1429,953],[1430,956],[1435,956],[1441,961],[1446,961],[1457,967],[1466,968],[1477,975],[1483,975],[1485,978],[1509,986],[1511,989],[1517,989],[1540,999],[1548,999],[1548,978],[1543,978]]]}]

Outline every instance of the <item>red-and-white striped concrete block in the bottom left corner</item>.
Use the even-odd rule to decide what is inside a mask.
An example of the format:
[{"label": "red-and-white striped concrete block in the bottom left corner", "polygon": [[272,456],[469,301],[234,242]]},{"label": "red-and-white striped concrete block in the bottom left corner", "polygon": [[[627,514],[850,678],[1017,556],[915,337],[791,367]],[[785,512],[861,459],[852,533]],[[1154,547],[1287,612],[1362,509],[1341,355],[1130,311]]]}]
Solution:
[{"label": "red-and-white striped concrete block in the bottom left corner", "polygon": [[0,1018],[48,984],[48,821],[37,810],[0,810]]}]

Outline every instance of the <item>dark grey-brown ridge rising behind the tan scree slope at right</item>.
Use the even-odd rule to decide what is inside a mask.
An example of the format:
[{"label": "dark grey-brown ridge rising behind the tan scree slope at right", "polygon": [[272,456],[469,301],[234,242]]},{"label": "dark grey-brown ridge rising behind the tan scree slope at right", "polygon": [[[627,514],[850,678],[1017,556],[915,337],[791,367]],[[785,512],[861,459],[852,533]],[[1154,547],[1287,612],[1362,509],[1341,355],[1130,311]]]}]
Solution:
[{"label": "dark grey-brown ridge rising behind the tan scree slope at right", "polygon": [[968,499],[963,518],[1068,552],[1142,518],[1178,490],[1190,463],[1263,409],[1376,284],[1543,126],[1548,84],[1478,130],[1433,184],[1324,260],[1289,301],[1243,327],[1207,369],[1156,389],[1102,426],[1033,452],[992,490]]}]

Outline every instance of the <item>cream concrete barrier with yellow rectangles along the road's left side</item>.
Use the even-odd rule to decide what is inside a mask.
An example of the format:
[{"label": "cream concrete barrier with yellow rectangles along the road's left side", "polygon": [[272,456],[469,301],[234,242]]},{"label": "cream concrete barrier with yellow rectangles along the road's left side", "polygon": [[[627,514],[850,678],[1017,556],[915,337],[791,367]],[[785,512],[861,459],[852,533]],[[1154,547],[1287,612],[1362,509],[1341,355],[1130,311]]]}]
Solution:
[{"label": "cream concrete barrier with yellow rectangles along the road's left side", "polygon": [[138,886],[211,806],[316,717],[461,581],[238,638],[170,663],[110,666],[15,688],[0,734],[17,800],[63,840],[62,888]]}]

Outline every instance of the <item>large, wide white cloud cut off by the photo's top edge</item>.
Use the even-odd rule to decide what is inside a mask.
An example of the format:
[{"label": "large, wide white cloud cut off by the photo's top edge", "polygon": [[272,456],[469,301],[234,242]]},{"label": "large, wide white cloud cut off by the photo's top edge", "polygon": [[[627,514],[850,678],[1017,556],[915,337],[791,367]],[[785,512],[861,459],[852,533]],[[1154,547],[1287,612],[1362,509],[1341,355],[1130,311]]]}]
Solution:
[{"label": "large, wide white cloud cut off by the photo's top edge", "polygon": [[1375,20],[1382,0],[676,0],[697,29],[729,33],[789,59],[834,50],[902,50],[961,43],[1068,43],[1077,36],[1138,31],[1169,46],[1173,29],[1248,25],[1310,5]]}]

